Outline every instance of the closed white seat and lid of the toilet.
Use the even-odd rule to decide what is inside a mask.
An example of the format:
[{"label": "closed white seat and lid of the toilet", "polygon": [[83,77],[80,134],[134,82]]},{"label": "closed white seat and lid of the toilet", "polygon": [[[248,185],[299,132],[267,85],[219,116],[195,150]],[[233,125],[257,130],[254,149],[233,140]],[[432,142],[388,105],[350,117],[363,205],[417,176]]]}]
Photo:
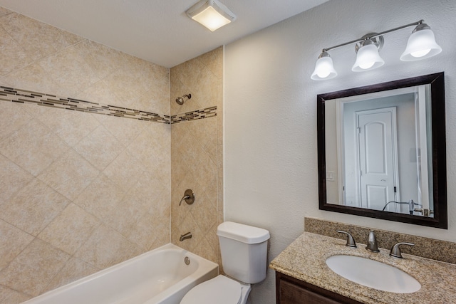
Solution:
[{"label": "closed white seat and lid of the toilet", "polygon": [[192,288],[180,301],[180,304],[238,304],[241,300],[242,285],[219,275]]}]

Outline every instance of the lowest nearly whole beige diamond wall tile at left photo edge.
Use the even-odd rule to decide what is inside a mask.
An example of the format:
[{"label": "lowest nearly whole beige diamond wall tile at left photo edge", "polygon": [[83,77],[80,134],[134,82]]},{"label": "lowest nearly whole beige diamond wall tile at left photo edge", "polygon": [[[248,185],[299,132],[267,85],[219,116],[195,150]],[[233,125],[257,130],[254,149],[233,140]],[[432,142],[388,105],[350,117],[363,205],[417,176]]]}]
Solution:
[{"label": "lowest nearly whole beige diamond wall tile at left photo edge", "polygon": [[70,257],[35,239],[0,272],[0,284],[28,295],[39,295]]}]

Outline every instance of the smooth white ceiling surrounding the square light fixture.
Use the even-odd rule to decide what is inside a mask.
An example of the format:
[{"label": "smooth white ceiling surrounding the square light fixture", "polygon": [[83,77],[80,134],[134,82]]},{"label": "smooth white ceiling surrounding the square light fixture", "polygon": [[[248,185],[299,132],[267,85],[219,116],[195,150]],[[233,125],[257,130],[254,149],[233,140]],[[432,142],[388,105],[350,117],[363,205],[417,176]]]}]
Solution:
[{"label": "smooth white ceiling surrounding the square light fixture", "polygon": [[0,0],[0,6],[167,68],[328,0],[221,0],[237,20],[211,32],[197,0]]}]

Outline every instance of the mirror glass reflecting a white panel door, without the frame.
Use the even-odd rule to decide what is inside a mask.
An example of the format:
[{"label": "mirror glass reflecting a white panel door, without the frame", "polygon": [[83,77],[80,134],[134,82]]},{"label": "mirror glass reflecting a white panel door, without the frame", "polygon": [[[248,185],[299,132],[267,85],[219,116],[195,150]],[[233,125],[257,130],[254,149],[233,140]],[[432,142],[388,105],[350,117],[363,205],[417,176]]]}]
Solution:
[{"label": "mirror glass reflecting a white panel door, without the frame", "polygon": [[430,85],[326,100],[328,204],[433,216],[430,100]]}]

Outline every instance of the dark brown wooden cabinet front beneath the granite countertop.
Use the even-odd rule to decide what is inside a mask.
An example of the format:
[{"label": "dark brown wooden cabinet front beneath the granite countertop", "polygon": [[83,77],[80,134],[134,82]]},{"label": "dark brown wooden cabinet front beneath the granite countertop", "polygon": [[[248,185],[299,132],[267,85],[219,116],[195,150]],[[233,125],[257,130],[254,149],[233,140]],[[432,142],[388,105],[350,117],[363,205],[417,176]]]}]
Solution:
[{"label": "dark brown wooden cabinet front beneath the granite countertop", "polygon": [[355,304],[343,295],[297,280],[276,271],[276,304]]}]

